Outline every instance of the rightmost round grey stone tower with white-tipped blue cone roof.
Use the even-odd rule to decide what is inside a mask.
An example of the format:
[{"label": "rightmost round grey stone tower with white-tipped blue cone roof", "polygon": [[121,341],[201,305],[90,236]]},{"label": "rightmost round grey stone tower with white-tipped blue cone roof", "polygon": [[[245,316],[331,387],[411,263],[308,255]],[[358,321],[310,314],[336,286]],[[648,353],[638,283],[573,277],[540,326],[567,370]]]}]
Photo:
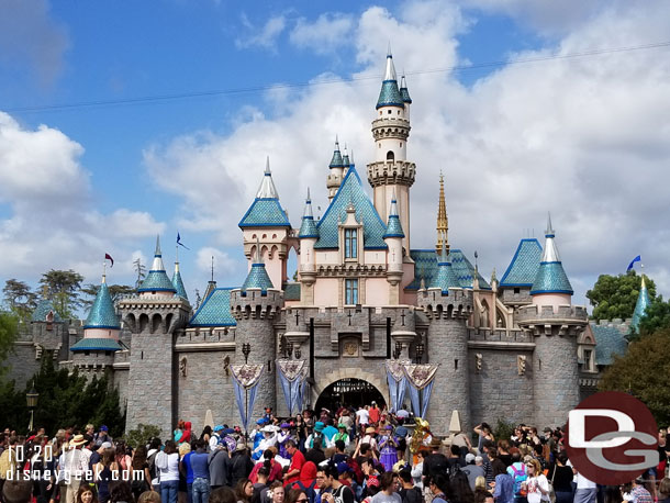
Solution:
[{"label": "rightmost round grey stone tower with white-tipped blue cone roof", "polygon": [[588,322],[587,310],[571,305],[572,287],[555,237],[549,216],[545,248],[531,288],[533,304],[521,306],[516,316],[518,326],[535,336],[533,364],[524,362],[523,375],[534,383],[535,424],[545,426],[563,425],[579,403],[577,339]]}]

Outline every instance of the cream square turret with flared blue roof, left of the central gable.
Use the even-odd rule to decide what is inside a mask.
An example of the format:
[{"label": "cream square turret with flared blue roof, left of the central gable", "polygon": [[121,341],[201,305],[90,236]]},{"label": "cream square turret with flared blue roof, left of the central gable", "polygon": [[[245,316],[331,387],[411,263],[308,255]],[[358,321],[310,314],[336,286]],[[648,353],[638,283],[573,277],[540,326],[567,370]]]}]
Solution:
[{"label": "cream square turret with flared blue roof, left of the central gable", "polygon": [[287,255],[288,237],[291,232],[289,217],[281,208],[279,194],[270,171],[270,159],[266,159],[266,168],[256,199],[239,221],[244,241],[244,254],[248,268],[252,270],[256,246],[260,246],[263,258],[272,284],[281,289],[288,280]]}]

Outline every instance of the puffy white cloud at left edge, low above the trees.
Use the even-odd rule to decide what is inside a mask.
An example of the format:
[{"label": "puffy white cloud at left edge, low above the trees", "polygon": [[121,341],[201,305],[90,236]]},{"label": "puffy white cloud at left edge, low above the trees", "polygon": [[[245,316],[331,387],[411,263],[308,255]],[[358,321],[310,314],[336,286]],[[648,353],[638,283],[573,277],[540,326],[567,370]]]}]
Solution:
[{"label": "puffy white cloud at left edge, low above the trees", "polygon": [[0,112],[0,201],[9,209],[0,219],[0,278],[34,283],[46,269],[72,268],[97,282],[105,253],[115,260],[111,281],[133,278],[132,246],[165,224],[123,208],[97,211],[82,154],[60,131],[29,130]]}]

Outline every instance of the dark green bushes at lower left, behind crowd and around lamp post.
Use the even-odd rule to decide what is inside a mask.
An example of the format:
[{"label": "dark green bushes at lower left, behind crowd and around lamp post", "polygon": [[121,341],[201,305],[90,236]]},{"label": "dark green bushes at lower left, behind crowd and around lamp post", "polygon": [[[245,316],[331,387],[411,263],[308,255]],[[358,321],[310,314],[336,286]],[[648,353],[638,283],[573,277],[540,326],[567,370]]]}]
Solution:
[{"label": "dark green bushes at lower left, behind crowd and around lamp post", "polygon": [[58,428],[75,426],[83,429],[88,423],[97,426],[105,424],[110,434],[123,433],[124,417],[119,407],[119,392],[110,384],[108,376],[87,379],[77,371],[56,370],[49,351],[44,351],[40,371],[26,383],[25,389],[16,389],[14,382],[0,385],[0,425],[22,431],[29,423],[25,393],[34,383],[40,393],[34,423],[44,426],[51,435]]}]

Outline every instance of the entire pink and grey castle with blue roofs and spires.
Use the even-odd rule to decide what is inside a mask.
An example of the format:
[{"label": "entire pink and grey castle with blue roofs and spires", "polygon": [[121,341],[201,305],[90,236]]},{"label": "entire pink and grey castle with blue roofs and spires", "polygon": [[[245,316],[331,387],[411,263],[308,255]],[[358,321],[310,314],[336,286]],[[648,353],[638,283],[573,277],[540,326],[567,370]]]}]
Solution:
[{"label": "entire pink and grey castle with blue roofs and spires", "polygon": [[335,144],[321,219],[305,188],[302,219],[290,222],[269,164],[259,169],[239,221],[242,286],[211,281],[193,309],[179,264],[170,278],[157,243],[136,294],[114,305],[103,277],[81,326],[43,300],[16,346],[25,365],[14,367],[27,377],[49,355],[85,375],[110,372],[126,427],[164,434],[179,418],[199,431],[208,410],[232,425],[266,406],[287,416],[371,401],[413,410],[436,434],[448,433],[454,411],[464,428],[498,418],[565,424],[598,383],[600,342],[585,309],[571,303],[560,230],[549,219],[544,242],[521,239],[502,278],[487,281],[449,236],[440,177],[436,239],[414,247],[411,189],[421,169],[410,157],[411,108],[389,54],[370,107],[376,156],[359,170]]}]

